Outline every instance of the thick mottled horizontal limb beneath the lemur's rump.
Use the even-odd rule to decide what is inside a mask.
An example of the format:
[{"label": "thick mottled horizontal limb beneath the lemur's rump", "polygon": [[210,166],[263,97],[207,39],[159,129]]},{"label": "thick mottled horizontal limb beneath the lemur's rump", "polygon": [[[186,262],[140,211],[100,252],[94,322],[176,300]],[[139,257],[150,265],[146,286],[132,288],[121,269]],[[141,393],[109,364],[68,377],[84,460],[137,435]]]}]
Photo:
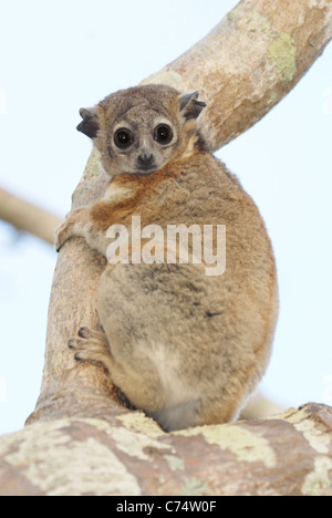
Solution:
[{"label": "thick mottled horizontal limb beneath the lemur's rump", "polygon": [[331,496],[332,410],[172,434],[139,412],[37,423],[1,439],[0,480],[0,496]]}]

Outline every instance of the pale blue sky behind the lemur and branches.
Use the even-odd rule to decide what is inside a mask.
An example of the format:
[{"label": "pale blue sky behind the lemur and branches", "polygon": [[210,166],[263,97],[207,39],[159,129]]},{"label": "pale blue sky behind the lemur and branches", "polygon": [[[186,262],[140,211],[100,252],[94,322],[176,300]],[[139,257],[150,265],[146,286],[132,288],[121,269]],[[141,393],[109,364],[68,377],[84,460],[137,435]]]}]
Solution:
[{"label": "pale blue sky behind the lemur and branches", "polygon": [[[1,0],[0,186],[64,216],[91,144],[79,108],[137,84],[203,38],[231,0]],[[250,56],[248,56],[250,59]],[[262,390],[332,405],[332,46],[259,124],[218,152],[274,246],[280,319]],[[0,434],[38,397],[56,255],[0,222]]]}]

